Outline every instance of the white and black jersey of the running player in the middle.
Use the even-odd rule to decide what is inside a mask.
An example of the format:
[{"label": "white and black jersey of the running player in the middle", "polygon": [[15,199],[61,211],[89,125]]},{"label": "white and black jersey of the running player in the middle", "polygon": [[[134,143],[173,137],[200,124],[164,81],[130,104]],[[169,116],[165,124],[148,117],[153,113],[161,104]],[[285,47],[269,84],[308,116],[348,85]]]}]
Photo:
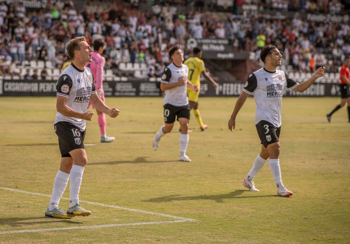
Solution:
[{"label": "white and black jersey of the running player in the middle", "polygon": [[[162,75],[161,82],[166,84],[173,84],[179,81],[182,77],[187,79],[188,66],[182,64],[181,67],[176,66],[174,63],[169,64]],[[187,84],[182,86],[176,86],[172,89],[165,91],[163,105],[171,104],[173,106],[185,106],[188,105],[188,97],[186,93]]]}]

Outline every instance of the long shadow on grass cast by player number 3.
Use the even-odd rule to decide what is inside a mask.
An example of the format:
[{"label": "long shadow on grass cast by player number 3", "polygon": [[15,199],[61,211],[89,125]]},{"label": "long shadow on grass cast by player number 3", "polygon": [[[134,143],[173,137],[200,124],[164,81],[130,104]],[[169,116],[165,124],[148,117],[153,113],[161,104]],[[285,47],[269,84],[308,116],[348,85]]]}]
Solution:
[{"label": "long shadow on grass cast by player number 3", "polygon": [[180,195],[169,195],[162,196],[160,198],[152,198],[149,200],[143,200],[143,202],[171,202],[171,201],[184,201],[184,200],[214,200],[216,202],[224,202],[223,199],[231,198],[262,198],[262,197],[271,197],[276,195],[255,195],[255,196],[239,196],[244,192],[249,192],[248,190],[236,190],[228,194],[220,195],[200,195],[200,196],[180,196]]}]

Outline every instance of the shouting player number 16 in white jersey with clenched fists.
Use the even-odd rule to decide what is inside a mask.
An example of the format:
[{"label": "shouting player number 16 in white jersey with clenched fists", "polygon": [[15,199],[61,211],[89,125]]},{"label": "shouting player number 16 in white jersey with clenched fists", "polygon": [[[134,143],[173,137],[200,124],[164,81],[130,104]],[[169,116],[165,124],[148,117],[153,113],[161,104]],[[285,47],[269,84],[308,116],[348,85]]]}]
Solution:
[{"label": "shouting player number 16 in white jersey with clenched fists", "polygon": [[[56,218],[71,218],[88,216],[91,211],[85,210],[79,204],[79,190],[82,183],[87,156],[84,148],[85,121],[92,120],[93,111],[86,111],[87,104],[115,118],[119,114],[116,108],[109,108],[98,97],[94,78],[89,68],[84,67],[92,61],[92,49],[85,37],[76,37],[67,45],[68,56],[72,63],[62,72],[57,81],[57,114],[55,132],[58,136],[61,151],[61,166],[56,174],[51,200],[45,216]],[[70,178],[70,206],[65,213],[58,208],[59,200]]]}]

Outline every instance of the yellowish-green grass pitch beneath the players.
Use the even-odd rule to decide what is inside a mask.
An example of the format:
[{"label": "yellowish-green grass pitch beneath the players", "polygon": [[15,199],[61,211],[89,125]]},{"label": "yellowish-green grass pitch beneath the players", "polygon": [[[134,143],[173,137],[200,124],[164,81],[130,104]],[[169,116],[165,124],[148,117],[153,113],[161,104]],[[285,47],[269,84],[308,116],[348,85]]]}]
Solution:
[{"label": "yellowish-green grass pitch beneath the players", "polygon": [[[99,143],[97,115],[86,122],[87,164],[80,200],[198,220],[82,203],[89,217],[44,217],[50,198],[0,188],[0,243],[346,243],[350,238],[350,124],[346,108],[331,123],[339,98],[283,98],[282,180],[294,192],[276,196],[268,165],[241,181],[260,151],[255,103],[248,98],[236,130],[228,130],[237,97],[200,98],[208,129],[192,120],[187,155],[178,162],[179,125],[152,150],[163,124],[162,98],[107,98],[112,143]],[[56,98],[0,98],[0,187],[50,195],[60,153],[54,132]],[[177,123],[177,122],[176,122]],[[92,145],[93,144],[93,145]],[[63,197],[69,198],[69,186]],[[69,201],[62,199],[66,210]],[[168,221],[168,222],[166,222]],[[171,221],[171,222],[170,222]],[[151,223],[150,223],[151,222]],[[154,223],[156,222],[156,223]],[[132,225],[134,223],[149,223]],[[93,228],[94,225],[113,225]],[[86,229],[61,229],[88,227]],[[6,231],[60,230],[24,233]]]}]

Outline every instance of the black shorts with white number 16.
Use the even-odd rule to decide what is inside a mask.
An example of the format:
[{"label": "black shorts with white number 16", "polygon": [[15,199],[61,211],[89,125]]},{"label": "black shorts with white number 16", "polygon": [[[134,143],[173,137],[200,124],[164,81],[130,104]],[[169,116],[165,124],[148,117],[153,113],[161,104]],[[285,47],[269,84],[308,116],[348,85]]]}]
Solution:
[{"label": "black shorts with white number 16", "polygon": [[69,122],[58,122],[54,124],[54,128],[62,158],[71,157],[69,152],[74,149],[84,148],[86,130],[82,132],[76,125]]}]

